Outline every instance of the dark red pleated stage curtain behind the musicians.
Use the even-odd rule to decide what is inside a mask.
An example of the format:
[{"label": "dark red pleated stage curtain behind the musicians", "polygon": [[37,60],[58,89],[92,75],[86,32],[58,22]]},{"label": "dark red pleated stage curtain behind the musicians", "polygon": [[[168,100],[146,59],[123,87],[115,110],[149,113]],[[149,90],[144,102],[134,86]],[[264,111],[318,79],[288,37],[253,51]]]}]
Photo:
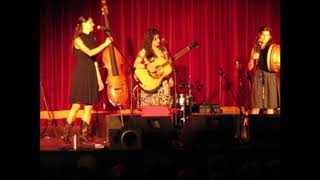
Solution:
[{"label": "dark red pleated stage curtain behind the musicians", "polygon": [[[222,106],[236,105],[233,98],[239,92],[236,61],[245,72],[258,27],[269,25],[274,41],[280,43],[278,0],[108,0],[107,3],[113,37],[125,57],[128,80],[129,66],[142,47],[147,28],[158,28],[173,54],[193,41],[200,44],[175,62],[177,83],[187,82],[190,74],[197,103],[218,103],[221,67],[226,75]],[[103,24],[100,9],[100,0],[47,0],[41,4],[40,80],[51,110],[70,108],[70,80],[76,63],[70,44],[77,19],[90,15],[96,24]],[[99,43],[104,39],[98,30],[93,34]],[[101,73],[106,76],[105,69]],[[247,87],[246,76],[243,80]],[[200,91],[196,89],[199,85],[203,85]],[[244,91],[243,97],[247,99],[247,88]],[[105,93],[101,93],[101,102],[105,100]],[[42,98],[40,109],[45,110]]]}]

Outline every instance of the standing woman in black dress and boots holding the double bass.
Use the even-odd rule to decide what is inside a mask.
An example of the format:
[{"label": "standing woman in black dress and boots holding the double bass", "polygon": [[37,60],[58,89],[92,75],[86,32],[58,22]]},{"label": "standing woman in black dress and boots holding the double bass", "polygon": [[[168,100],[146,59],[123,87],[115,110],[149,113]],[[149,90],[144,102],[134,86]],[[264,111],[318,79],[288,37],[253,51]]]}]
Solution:
[{"label": "standing woman in black dress and boots holding the double bass", "polygon": [[93,27],[94,22],[91,17],[79,17],[72,39],[72,52],[76,57],[77,64],[71,81],[70,101],[72,107],[62,136],[67,143],[70,143],[69,132],[81,105],[84,105],[84,113],[80,142],[88,142],[92,105],[98,101],[98,91],[104,88],[96,55],[111,43],[111,39],[108,37],[105,42],[97,46],[96,38],[90,34]]}]

